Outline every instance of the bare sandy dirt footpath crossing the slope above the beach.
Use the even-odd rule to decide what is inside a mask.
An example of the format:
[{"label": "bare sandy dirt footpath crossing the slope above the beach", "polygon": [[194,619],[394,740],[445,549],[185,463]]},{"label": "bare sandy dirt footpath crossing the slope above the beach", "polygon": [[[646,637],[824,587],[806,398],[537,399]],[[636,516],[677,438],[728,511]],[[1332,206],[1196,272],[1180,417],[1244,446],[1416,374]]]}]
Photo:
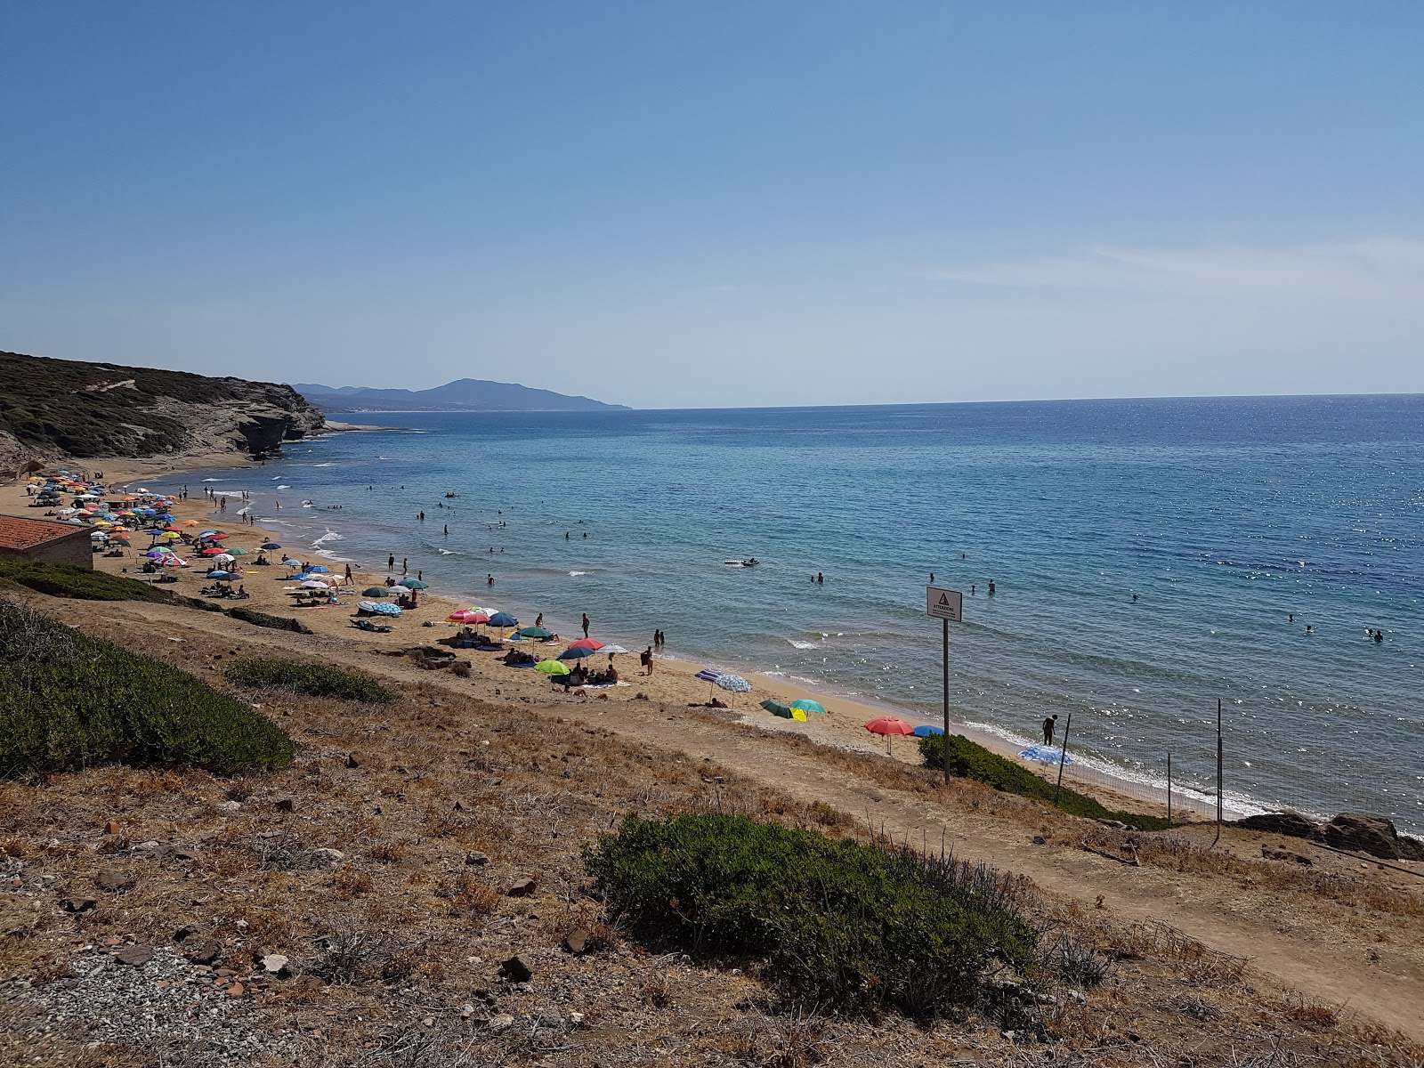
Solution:
[{"label": "bare sandy dirt footpath crossing the slope above the beach", "polygon": [[[67,622],[95,627],[91,605],[44,598],[44,611]],[[367,644],[352,644],[340,637],[292,635],[262,631],[218,614],[172,608],[158,604],[124,602],[105,605],[100,629],[110,635],[151,635],[150,652],[162,652],[164,634],[202,631],[239,639],[246,646],[269,649],[272,655],[305,655],[323,662],[350,666],[396,681],[437,685],[467,699],[521,702],[530,716],[555,718],[597,725],[627,739],[637,739],[651,750],[684,752],[692,758],[712,758],[735,772],[765,783],[805,802],[822,802],[839,812],[883,824],[897,840],[916,844],[921,840],[946,842],[964,859],[983,860],[1005,871],[1027,876],[1051,894],[1075,901],[1081,909],[1104,909],[1122,921],[1161,921],[1199,940],[1206,947],[1247,957],[1250,968],[1267,984],[1300,991],[1307,998],[1344,1008],[1378,1025],[1398,1030],[1415,1041],[1424,1040],[1424,967],[1407,931],[1377,930],[1371,943],[1371,924],[1351,920],[1349,904],[1312,897],[1304,900],[1290,890],[1256,887],[1250,879],[1203,870],[1176,871],[1158,866],[1126,866],[1098,853],[1084,850],[1081,836],[1095,824],[1062,816],[1052,809],[1025,807],[1017,797],[968,790],[960,796],[927,782],[921,789],[887,785],[894,775],[913,775],[893,768],[877,776],[874,765],[857,769],[856,758],[829,746],[816,746],[779,732],[723,722],[705,709],[689,709],[671,702],[637,699],[587,699],[580,696],[511,696],[498,686],[506,676],[497,665],[480,664],[483,676],[459,679],[443,672],[422,671],[406,658],[373,655]],[[171,646],[172,655],[179,655]],[[839,758],[839,759],[837,759]],[[930,779],[930,776],[926,776]],[[918,782],[914,779],[911,782]],[[973,799],[970,799],[973,795]],[[1025,816],[1027,813],[1027,816]],[[1027,822],[1025,822],[1027,820]],[[1034,822],[1041,820],[1035,844]],[[1183,832],[1190,836],[1206,830]],[[1247,859],[1259,857],[1259,834],[1229,829],[1222,849]],[[1354,859],[1323,857],[1323,864],[1340,864],[1341,873],[1384,877],[1371,864]],[[1398,876],[1410,884],[1410,876]],[[1424,880],[1414,879],[1413,883]],[[1411,890],[1418,893],[1418,890]],[[1401,921],[1401,927],[1404,923]],[[1400,941],[1407,944],[1400,944]]]}]

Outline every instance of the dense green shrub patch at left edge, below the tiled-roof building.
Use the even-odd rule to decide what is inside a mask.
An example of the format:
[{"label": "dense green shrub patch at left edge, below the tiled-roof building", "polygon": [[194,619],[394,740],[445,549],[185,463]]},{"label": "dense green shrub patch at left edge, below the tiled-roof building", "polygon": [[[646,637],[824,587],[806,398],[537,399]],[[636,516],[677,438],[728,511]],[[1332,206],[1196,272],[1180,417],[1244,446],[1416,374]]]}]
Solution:
[{"label": "dense green shrub patch at left edge, below the tiled-roof building", "polygon": [[282,768],[296,743],[201,679],[0,601],[0,775],[122,760]]}]

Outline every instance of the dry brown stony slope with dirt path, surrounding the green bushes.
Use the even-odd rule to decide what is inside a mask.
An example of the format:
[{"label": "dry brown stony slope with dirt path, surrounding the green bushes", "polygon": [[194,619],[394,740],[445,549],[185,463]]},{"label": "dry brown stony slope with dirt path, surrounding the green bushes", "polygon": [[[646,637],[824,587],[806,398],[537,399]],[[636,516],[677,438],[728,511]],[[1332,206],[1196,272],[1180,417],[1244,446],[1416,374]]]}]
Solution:
[{"label": "dry brown stony slope with dirt path, surrounding the green bushes", "polygon": [[[224,688],[234,656],[337,656],[300,645],[319,635],[206,612],[28,600]],[[184,641],[150,612],[182,612]],[[481,701],[468,681],[360,655],[399,702],[238,691],[305,743],[288,772],[0,783],[0,1061],[1424,1064],[1388,1024],[1417,981],[1424,880],[1262,856],[1310,847],[1257,832],[1225,852],[1192,832],[1129,837],[632,695]],[[832,834],[871,822],[926,847],[938,823],[963,856],[1022,873],[1044,974],[1000,977],[963,1018],[918,1027],[782,1004],[756,961],[645,946],[581,852],[627,812],[688,806]],[[1294,991],[1279,953],[1302,980],[1331,958],[1354,993]]]}]

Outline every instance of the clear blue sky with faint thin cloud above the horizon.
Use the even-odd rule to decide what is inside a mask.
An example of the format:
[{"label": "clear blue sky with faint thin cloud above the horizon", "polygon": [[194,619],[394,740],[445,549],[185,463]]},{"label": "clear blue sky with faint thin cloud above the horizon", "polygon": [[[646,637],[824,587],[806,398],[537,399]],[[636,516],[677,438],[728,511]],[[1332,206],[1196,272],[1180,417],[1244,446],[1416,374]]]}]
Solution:
[{"label": "clear blue sky with faint thin cloud above the horizon", "polygon": [[0,33],[0,347],[638,407],[1424,392],[1424,4]]}]

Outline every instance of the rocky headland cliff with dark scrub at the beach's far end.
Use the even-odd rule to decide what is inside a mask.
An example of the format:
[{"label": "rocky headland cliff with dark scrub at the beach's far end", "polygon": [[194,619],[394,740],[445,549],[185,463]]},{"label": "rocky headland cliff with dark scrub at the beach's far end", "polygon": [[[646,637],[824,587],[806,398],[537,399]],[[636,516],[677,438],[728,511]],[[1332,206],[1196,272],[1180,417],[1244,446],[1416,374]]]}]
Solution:
[{"label": "rocky headland cliff with dark scrub at the beach's far end", "polygon": [[323,429],[290,386],[0,352],[0,471],[94,457],[263,457]]}]

